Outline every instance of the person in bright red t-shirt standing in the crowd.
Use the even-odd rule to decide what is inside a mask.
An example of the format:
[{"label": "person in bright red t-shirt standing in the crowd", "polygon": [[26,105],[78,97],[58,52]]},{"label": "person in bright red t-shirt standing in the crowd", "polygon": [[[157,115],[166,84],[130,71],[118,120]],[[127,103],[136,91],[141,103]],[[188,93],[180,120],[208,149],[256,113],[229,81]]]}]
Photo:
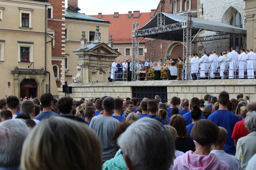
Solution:
[{"label": "person in bright red t-shirt standing in the crowd", "polygon": [[235,124],[235,126],[233,128],[232,136],[231,136],[232,139],[234,139],[235,147],[237,145],[237,140],[238,139],[240,139],[241,137],[244,137],[244,136],[249,134],[249,131],[246,129],[246,127],[244,125],[244,121],[245,121],[245,117],[246,117],[246,113],[247,113],[246,106],[241,106],[239,108],[239,110],[240,110],[240,115],[241,115],[243,120],[238,121]]}]

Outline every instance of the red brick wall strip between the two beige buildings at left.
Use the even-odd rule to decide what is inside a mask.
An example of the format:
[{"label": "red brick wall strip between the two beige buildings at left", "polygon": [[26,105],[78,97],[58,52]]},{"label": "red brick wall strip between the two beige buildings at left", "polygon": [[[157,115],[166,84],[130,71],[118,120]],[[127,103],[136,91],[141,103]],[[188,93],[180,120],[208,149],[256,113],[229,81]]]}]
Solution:
[{"label": "red brick wall strip between the two beige buildings at left", "polygon": [[[53,19],[62,19],[64,16],[62,15],[65,8],[62,7],[62,1],[60,0],[50,0],[49,2],[52,3],[53,6]],[[64,21],[56,21],[52,19],[48,19],[48,27],[55,30],[54,36],[56,37],[55,41],[55,47],[52,47],[52,56],[64,56],[61,54],[62,52],[65,52],[64,50],[61,50],[62,48],[65,48],[62,46],[62,44],[65,44],[62,42],[62,40],[65,40],[65,38],[62,38],[64,34],[62,32],[65,32],[65,30],[62,30],[62,28],[65,28],[65,26],[62,26],[62,24],[65,24]]]}]

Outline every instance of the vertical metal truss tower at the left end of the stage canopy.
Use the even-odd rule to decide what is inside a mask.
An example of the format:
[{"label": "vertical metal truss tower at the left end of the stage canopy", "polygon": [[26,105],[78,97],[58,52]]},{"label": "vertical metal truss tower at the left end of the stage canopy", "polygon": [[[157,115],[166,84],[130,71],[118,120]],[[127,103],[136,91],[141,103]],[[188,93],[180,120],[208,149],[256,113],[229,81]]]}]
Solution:
[{"label": "vertical metal truss tower at the left end of the stage canopy", "polygon": [[132,81],[138,81],[140,70],[137,68],[139,66],[139,44],[140,40],[137,36],[137,30],[139,30],[140,24],[138,22],[133,23],[133,31],[132,31],[132,38],[133,38],[133,67],[132,67]]}]

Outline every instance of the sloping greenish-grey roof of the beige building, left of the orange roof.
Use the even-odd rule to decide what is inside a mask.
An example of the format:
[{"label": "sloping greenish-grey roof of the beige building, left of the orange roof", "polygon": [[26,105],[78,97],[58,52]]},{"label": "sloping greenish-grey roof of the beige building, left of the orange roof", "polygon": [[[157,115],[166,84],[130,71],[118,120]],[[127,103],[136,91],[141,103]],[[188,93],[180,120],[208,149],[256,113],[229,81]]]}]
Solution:
[{"label": "sloping greenish-grey roof of the beige building, left of the orange roof", "polygon": [[85,15],[76,11],[69,11],[67,9],[65,9],[65,17],[66,18],[71,18],[71,19],[79,19],[79,20],[86,20],[86,21],[95,21],[95,22],[105,22],[105,23],[109,23],[109,21],[103,20],[103,19],[99,19],[99,18],[95,18],[89,15]]}]

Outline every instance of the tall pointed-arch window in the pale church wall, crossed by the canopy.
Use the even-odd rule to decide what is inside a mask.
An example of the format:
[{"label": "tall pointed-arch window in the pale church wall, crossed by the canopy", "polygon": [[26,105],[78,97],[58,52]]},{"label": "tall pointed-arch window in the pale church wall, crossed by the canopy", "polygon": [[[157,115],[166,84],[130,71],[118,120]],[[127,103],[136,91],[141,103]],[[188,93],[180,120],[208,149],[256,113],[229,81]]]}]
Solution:
[{"label": "tall pointed-arch window in the pale church wall, crossed by the canopy", "polygon": [[[231,16],[230,25],[238,28],[243,28],[242,15],[238,11],[234,12]],[[230,48],[235,47],[236,50],[240,50],[243,47],[242,37],[230,39],[229,46]]]}]

